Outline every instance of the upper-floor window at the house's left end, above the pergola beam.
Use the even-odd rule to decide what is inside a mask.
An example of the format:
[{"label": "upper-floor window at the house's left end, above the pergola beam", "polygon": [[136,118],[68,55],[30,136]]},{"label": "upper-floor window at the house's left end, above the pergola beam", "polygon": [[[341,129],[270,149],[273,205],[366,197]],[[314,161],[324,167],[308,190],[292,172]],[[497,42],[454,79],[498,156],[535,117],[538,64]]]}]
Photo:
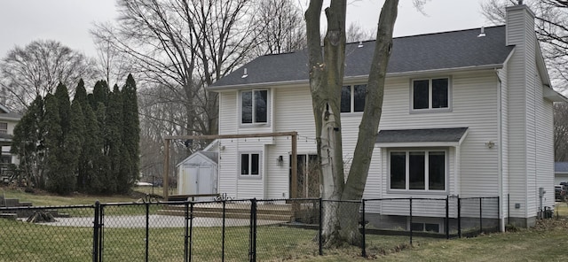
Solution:
[{"label": "upper-floor window at the house's left end, above the pergola beam", "polygon": [[241,92],[241,123],[268,122],[268,90]]}]

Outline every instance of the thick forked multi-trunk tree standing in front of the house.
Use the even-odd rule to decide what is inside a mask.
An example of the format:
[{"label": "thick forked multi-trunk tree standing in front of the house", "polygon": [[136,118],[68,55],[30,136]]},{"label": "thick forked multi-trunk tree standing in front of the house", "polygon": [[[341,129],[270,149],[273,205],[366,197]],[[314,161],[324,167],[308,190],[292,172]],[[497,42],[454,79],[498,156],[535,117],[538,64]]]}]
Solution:
[{"label": "thick forked multi-trunk tree standing in front of the house", "polygon": [[[321,196],[329,200],[360,200],[383,107],[386,69],[392,47],[392,32],[398,0],[386,0],[376,35],[375,55],[369,68],[366,104],[350,172],[345,180],[341,132],[341,88],[345,65],[346,1],[332,0],[326,8],[327,34],[320,45],[319,20],[322,0],[312,0],[305,12],[310,89],[318,146]],[[360,242],[359,204],[331,202],[323,217],[323,241],[327,245]]]}]

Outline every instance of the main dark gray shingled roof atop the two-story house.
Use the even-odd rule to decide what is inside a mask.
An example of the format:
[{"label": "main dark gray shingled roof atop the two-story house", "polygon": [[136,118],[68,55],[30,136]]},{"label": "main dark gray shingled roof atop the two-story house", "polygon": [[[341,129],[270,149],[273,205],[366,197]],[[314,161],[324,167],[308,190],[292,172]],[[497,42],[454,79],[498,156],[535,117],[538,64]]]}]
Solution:
[{"label": "main dark gray shingled roof atop the two-story house", "polygon": [[[388,73],[407,73],[446,68],[501,65],[512,46],[505,45],[505,26],[398,37],[393,40]],[[345,77],[368,74],[375,41],[346,47]],[[211,90],[281,81],[308,81],[306,50],[258,57],[209,87]],[[248,77],[241,78],[244,68]]]}]

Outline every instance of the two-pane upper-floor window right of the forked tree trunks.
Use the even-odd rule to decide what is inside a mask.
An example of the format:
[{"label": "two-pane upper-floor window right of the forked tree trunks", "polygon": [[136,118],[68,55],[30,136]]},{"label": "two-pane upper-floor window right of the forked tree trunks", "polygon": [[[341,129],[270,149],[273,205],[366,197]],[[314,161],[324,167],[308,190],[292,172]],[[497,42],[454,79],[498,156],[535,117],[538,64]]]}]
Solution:
[{"label": "two-pane upper-floor window right of the forked tree trunks", "polygon": [[449,82],[448,78],[412,81],[412,109],[416,111],[448,109]]}]

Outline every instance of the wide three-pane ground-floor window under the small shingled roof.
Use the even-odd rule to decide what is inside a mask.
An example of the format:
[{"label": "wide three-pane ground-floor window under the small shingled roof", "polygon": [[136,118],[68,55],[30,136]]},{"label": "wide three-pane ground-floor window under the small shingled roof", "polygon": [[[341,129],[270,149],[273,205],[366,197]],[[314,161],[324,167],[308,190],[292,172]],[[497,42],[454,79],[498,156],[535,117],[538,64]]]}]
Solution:
[{"label": "wide three-pane ground-floor window under the small shingled roof", "polygon": [[446,151],[391,151],[390,189],[446,190]]}]

